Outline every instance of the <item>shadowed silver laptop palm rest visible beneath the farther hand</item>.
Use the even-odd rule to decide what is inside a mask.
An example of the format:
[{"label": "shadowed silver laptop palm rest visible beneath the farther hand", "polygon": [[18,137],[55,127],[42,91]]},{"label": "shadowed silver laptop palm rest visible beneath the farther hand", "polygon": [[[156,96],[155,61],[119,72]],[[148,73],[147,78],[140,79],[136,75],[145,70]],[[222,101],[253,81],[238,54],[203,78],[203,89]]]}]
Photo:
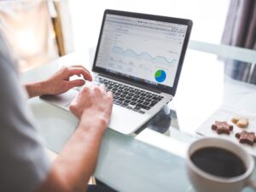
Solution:
[{"label": "shadowed silver laptop palm rest visible beneath the farther hand", "polygon": [[56,106],[67,108],[70,105],[70,102],[73,101],[73,98],[78,94],[79,94],[78,90],[68,90],[66,93],[63,93],[57,96],[47,95],[47,96],[40,96],[40,98]]}]

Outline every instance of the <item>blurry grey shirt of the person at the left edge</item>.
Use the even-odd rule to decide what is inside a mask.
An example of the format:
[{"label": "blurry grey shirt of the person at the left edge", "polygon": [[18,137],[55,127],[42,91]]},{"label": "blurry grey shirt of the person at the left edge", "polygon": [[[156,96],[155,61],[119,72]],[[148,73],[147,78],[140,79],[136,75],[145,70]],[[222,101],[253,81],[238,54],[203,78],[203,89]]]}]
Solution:
[{"label": "blurry grey shirt of the person at the left edge", "polygon": [[0,191],[34,191],[49,172],[26,93],[0,32]]}]

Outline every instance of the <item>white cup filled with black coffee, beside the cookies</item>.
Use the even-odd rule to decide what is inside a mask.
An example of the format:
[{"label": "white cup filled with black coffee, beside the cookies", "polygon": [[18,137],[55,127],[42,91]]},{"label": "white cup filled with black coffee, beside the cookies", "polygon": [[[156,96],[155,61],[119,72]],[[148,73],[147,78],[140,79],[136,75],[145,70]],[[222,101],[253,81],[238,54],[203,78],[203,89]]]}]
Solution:
[{"label": "white cup filled with black coffee, beside the cookies", "polygon": [[250,179],[253,157],[226,139],[206,137],[191,143],[186,166],[198,192],[240,192],[247,186],[256,190],[255,181]]}]

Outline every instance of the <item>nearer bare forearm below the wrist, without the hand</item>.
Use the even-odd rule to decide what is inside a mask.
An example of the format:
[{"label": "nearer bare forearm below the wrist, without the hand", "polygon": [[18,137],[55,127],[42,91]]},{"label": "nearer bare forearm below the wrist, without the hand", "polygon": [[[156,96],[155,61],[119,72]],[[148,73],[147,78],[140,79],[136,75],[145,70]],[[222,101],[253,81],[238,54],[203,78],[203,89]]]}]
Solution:
[{"label": "nearer bare forearm below the wrist, without the hand", "polygon": [[61,177],[67,179],[68,185],[75,191],[86,191],[89,178],[95,170],[103,131],[97,127],[91,128],[90,131],[84,131],[79,127],[56,161]]}]

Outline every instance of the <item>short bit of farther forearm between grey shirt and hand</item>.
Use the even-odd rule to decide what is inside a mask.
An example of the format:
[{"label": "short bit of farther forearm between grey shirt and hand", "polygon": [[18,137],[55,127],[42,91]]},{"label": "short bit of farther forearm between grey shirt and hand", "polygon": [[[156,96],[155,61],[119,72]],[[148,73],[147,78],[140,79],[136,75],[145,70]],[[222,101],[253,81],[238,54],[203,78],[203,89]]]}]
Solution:
[{"label": "short bit of farther forearm between grey shirt and hand", "polygon": [[42,96],[44,95],[44,82],[34,82],[25,84],[27,95],[32,98],[34,96]]}]

